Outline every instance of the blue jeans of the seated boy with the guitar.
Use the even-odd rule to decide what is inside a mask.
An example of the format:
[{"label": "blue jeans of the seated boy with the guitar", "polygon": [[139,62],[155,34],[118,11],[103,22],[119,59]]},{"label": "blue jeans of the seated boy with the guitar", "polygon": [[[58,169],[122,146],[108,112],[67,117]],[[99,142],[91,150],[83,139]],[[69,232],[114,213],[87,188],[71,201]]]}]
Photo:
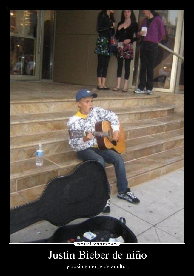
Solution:
[{"label": "blue jeans of the seated boy with the guitar", "polygon": [[[83,161],[96,160],[100,162],[105,169],[105,162],[113,164],[117,178],[118,192],[125,192],[128,188],[125,165],[122,156],[113,150],[99,150],[98,148],[88,148],[77,152],[79,159]],[[107,180],[108,181],[108,180]]]}]

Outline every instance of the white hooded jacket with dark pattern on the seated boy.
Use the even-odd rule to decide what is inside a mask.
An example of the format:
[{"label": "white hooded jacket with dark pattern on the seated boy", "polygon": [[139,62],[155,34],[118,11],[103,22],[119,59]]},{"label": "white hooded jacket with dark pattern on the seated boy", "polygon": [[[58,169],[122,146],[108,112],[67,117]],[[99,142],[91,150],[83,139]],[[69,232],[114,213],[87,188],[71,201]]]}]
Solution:
[{"label": "white hooded jacket with dark pattern on the seated boy", "polygon": [[[100,107],[93,107],[85,119],[78,116],[70,117],[69,121],[67,122],[67,126],[71,130],[92,132],[95,131],[95,123],[100,121],[109,121],[113,132],[116,130],[119,131],[119,120],[117,115],[112,111],[108,111]],[[97,141],[96,137],[93,137],[92,140],[86,142],[83,141],[83,138],[75,138],[69,139],[69,144],[73,151],[80,151],[96,146]]]}]

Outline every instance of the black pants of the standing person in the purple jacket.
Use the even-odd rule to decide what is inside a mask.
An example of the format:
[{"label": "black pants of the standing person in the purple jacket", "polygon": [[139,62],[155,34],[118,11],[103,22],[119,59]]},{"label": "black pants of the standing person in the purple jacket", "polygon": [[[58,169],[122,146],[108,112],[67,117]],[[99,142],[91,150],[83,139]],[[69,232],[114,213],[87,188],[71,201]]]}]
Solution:
[{"label": "black pants of the standing person in the purple jacket", "polygon": [[[139,89],[144,90],[145,87],[147,90],[153,89],[153,76],[154,76],[154,63],[158,53],[158,44],[142,43],[140,49],[140,84]],[[147,74],[147,81],[146,81]]]}]

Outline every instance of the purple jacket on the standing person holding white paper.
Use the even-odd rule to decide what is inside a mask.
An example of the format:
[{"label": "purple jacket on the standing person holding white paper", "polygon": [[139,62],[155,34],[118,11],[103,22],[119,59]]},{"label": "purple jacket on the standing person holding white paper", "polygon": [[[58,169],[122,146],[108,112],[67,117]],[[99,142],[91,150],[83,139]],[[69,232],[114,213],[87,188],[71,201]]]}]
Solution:
[{"label": "purple jacket on the standing person holding white paper", "polygon": [[[142,27],[147,27],[146,18],[144,18],[144,20],[142,22],[141,28]],[[139,29],[139,31],[141,31],[141,28]],[[147,30],[146,37],[144,37],[143,41],[151,41],[154,43],[158,43],[165,36],[165,34],[166,34],[166,32],[165,32],[165,28],[164,28],[162,19],[160,18],[160,16],[156,16],[154,18],[154,20],[151,22],[151,24]],[[138,37],[140,37],[140,36],[138,35]]]}]

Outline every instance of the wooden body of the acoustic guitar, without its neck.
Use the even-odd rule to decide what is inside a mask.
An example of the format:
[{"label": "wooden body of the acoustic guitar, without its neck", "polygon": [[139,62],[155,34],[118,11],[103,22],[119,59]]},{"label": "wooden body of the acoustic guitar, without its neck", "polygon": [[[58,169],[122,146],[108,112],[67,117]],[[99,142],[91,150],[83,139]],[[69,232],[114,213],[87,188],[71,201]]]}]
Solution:
[{"label": "wooden body of the acoustic guitar, without its neck", "polygon": [[110,133],[109,137],[96,137],[99,150],[112,149],[118,153],[124,153],[125,151],[125,137],[123,132],[123,127],[120,122],[120,134],[118,141],[112,140],[112,128],[110,122],[102,121],[95,124],[96,131],[108,132]]}]

